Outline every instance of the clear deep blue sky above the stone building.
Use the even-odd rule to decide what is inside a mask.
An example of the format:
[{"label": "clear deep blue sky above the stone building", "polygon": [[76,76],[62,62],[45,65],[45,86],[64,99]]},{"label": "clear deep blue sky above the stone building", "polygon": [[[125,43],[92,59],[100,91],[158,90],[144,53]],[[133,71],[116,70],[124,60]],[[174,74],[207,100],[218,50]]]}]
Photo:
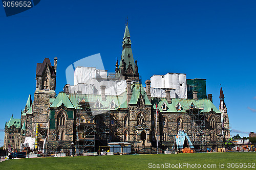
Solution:
[{"label": "clear deep blue sky above the stone building", "polygon": [[[220,84],[232,135],[256,131],[256,1],[41,1],[6,17],[0,7],[0,145],[5,121],[20,118],[35,91],[36,63],[58,57],[56,92],[73,62],[100,53],[105,69],[120,62],[125,18],[142,82],[180,72],[204,78],[219,107]],[[245,133],[243,133],[245,132]]]}]

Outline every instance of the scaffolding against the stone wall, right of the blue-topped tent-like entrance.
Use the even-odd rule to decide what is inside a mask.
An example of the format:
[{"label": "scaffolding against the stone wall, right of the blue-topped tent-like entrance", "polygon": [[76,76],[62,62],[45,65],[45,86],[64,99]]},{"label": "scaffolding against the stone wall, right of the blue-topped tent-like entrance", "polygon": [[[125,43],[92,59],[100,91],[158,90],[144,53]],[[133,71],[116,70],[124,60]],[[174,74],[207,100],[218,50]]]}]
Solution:
[{"label": "scaffolding against the stone wall, right of the blue-topped tent-like entrance", "polygon": [[205,129],[205,113],[203,104],[189,106],[187,119],[190,122],[191,142],[200,151],[206,151],[206,129]]}]

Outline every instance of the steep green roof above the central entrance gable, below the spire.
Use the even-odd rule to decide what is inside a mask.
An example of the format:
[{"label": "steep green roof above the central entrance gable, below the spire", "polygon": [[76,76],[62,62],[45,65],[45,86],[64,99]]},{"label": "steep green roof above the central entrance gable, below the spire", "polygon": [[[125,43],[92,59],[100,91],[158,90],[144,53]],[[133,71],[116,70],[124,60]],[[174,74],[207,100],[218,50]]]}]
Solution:
[{"label": "steep green roof above the central entrance gable, below the spire", "polygon": [[150,100],[148,100],[146,92],[145,92],[141,83],[133,83],[132,84],[132,91],[133,91],[133,94],[132,94],[132,98],[131,98],[131,101],[129,102],[129,104],[137,104],[138,99],[139,99],[140,94],[141,94],[145,105],[151,105]]}]

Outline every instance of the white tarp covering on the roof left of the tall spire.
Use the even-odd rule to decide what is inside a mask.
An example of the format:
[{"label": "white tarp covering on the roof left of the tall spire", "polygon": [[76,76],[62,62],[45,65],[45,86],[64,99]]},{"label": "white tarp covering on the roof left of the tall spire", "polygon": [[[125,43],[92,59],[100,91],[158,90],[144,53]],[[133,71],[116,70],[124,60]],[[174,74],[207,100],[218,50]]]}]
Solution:
[{"label": "white tarp covering on the roof left of the tall spire", "polygon": [[92,67],[77,67],[74,72],[74,86],[71,93],[101,94],[100,86],[104,85],[106,95],[119,95],[126,89],[125,80],[109,80],[106,70]]}]

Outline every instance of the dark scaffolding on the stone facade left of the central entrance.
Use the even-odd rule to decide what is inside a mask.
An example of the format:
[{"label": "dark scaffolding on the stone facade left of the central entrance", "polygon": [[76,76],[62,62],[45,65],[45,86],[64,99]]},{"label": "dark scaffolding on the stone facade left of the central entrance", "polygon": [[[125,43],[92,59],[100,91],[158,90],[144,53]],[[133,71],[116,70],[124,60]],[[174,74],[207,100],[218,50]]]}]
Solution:
[{"label": "dark scaffolding on the stone facade left of the central entrance", "polygon": [[108,108],[102,107],[95,95],[75,95],[77,153],[95,152],[98,145],[105,145],[109,139]]}]

